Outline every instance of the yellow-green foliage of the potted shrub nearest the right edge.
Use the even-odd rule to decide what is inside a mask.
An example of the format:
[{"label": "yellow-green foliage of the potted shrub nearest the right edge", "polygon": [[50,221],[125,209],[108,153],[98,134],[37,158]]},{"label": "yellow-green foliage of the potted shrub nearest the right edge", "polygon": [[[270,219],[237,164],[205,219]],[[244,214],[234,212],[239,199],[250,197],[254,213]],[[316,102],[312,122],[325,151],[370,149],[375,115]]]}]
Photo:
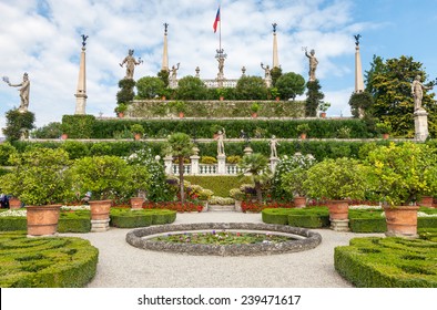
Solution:
[{"label": "yellow-green foliage of the potted shrub nearest the right edge", "polygon": [[427,145],[390,143],[369,152],[367,163],[376,195],[390,206],[418,202],[436,186],[435,175],[427,173],[437,163],[436,151]]}]

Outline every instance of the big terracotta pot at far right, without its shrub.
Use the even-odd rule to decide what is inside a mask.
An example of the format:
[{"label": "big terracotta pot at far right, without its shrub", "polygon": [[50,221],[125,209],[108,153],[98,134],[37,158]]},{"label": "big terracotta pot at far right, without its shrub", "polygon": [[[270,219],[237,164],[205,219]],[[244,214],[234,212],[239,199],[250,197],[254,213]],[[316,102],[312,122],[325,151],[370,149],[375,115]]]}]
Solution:
[{"label": "big terracotta pot at far right, without its shrub", "polygon": [[387,223],[386,236],[417,237],[417,206],[384,207]]}]

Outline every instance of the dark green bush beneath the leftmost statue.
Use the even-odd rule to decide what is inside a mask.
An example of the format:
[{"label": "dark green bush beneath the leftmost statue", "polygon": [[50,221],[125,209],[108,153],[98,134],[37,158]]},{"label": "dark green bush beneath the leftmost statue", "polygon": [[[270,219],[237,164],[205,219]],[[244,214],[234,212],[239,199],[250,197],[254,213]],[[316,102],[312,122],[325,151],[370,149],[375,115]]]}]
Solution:
[{"label": "dark green bush beneath the leftmost statue", "polygon": [[22,136],[28,136],[29,132],[34,128],[34,114],[32,112],[20,112],[9,110],[6,113],[6,127],[3,134],[10,142],[18,141]]}]

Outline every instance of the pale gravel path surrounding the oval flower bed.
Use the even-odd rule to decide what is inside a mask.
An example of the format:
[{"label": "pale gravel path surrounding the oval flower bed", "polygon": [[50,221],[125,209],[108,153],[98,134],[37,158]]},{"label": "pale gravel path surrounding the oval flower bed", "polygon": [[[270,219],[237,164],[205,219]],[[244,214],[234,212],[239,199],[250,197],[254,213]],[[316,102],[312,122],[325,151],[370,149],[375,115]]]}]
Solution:
[{"label": "pale gravel path surrounding the oval flower bed", "polygon": [[[175,224],[262,223],[261,214],[177,214]],[[347,288],[334,269],[334,248],[350,238],[369,236],[314,229],[322,244],[312,250],[255,257],[187,256],[134,248],[125,241],[131,229],[68,234],[99,248],[98,272],[91,288]],[[383,236],[373,235],[373,236]]]}]

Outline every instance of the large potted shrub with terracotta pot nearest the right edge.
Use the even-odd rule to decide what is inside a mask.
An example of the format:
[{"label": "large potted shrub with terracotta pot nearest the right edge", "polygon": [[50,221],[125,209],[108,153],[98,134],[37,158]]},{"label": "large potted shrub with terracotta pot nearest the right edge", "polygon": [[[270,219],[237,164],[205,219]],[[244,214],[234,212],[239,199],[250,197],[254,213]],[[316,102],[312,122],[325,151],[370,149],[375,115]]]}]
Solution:
[{"label": "large potted shrub with terracotta pot nearest the right edge", "polygon": [[387,236],[417,237],[417,202],[436,188],[436,154],[428,145],[404,143],[369,152],[367,162],[384,204]]}]

